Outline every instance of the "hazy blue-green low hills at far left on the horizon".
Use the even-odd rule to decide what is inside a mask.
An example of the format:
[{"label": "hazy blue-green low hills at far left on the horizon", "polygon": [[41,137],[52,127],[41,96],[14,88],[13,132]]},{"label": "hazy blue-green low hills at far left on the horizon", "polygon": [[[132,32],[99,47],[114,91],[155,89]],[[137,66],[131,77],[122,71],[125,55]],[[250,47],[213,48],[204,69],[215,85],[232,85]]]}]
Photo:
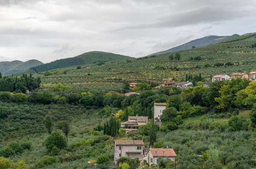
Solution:
[{"label": "hazy blue-green low hills at far left on the horizon", "polygon": [[14,60],[12,62],[0,62],[0,72],[3,75],[8,75],[16,72],[20,72],[23,70],[27,70],[29,68],[38,66],[38,65],[43,65],[43,62],[40,62],[39,60],[29,60],[26,62],[22,62],[19,60]]}]

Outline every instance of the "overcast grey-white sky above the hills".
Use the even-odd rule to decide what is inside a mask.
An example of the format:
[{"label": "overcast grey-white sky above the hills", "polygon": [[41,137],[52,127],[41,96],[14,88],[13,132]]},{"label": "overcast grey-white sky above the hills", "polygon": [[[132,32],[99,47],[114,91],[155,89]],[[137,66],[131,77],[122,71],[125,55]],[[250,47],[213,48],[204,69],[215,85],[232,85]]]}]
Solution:
[{"label": "overcast grey-white sky above the hills", "polygon": [[89,51],[146,56],[208,35],[256,32],[256,0],[0,0],[0,61]]}]

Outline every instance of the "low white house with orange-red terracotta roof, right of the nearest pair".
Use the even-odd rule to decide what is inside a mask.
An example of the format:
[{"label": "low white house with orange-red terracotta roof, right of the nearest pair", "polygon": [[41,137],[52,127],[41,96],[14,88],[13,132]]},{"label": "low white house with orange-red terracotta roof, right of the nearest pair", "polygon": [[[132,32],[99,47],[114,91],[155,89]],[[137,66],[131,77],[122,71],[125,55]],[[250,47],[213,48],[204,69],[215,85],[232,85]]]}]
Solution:
[{"label": "low white house with orange-red terracotta roof, right of the nearest pair", "polygon": [[149,149],[147,157],[144,158],[149,165],[157,165],[157,158],[163,157],[175,161],[176,153],[174,149]]}]

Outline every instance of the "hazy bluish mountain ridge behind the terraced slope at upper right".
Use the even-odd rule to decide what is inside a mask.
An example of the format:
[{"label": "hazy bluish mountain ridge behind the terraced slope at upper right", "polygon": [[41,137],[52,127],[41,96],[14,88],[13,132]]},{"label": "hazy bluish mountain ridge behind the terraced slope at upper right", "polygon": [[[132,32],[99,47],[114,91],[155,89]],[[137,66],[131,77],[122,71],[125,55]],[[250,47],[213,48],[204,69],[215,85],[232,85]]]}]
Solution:
[{"label": "hazy bluish mountain ridge behind the terraced slope at upper right", "polygon": [[160,51],[160,52],[157,52],[157,53],[154,53],[154,54],[150,54],[148,56],[166,54],[166,53],[177,52],[177,51],[183,51],[183,50],[191,49],[192,46],[195,46],[196,48],[204,47],[204,46],[212,45],[212,44],[215,44],[215,43],[218,43],[218,42],[223,42],[223,41],[226,41],[226,40],[234,39],[234,38],[237,38],[237,37],[240,37],[240,35],[238,35],[238,34],[233,34],[232,36],[213,36],[213,35],[210,35],[210,36],[203,37],[203,38],[200,38],[200,39],[192,40],[192,41],[187,42],[183,45],[177,46],[175,48],[168,49],[166,51]]}]

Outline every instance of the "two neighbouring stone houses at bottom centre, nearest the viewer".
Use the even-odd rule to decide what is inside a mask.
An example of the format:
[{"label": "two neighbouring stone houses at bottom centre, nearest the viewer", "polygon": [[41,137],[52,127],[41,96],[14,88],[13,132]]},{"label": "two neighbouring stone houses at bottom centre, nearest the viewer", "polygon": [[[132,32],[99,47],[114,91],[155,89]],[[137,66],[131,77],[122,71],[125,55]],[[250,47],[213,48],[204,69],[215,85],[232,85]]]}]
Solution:
[{"label": "two neighbouring stone houses at bottom centre, nearest the viewer", "polygon": [[145,148],[142,140],[115,140],[114,161],[121,157],[131,159],[139,158],[141,162],[146,161],[149,165],[157,165],[157,158],[164,157],[174,161],[177,156],[173,149],[152,149]]}]

